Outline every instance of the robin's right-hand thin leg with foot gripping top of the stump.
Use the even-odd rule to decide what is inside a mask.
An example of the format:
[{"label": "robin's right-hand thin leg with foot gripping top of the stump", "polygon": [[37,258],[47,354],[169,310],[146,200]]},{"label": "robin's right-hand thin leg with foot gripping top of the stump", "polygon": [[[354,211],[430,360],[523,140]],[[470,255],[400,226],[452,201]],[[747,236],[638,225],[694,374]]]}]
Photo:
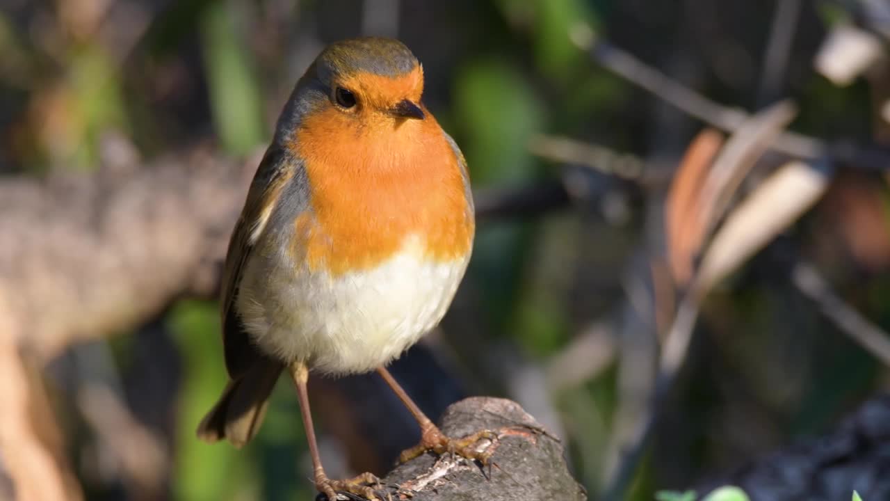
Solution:
[{"label": "robin's right-hand thin leg with foot gripping top of the stump", "polygon": [[406,393],[401,385],[395,381],[395,378],[392,377],[392,374],[390,374],[388,370],[384,367],[380,367],[377,369],[377,373],[384,378],[386,384],[392,388],[392,391],[399,397],[401,403],[404,404],[405,407],[408,407],[411,415],[414,415],[414,419],[416,419],[417,424],[420,425],[420,443],[401,453],[401,456],[399,456],[399,461],[401,463],[408,462],[411,459],[424,454],[426,451],[431,450],[439,455],[448,452],[457,454],[457,456],[464,456],[467,459],[479,461],[481,464],[488,464],[491,453],[488,449],[481,452],[478,451],[476,449],[476,442],[481,439],[494,441],[498,438],[497,433],[494,431],[482,430],[461,439],[450,439],[439,430],[439,427],[430,421],[430,418],[426,417],[424,412],[420,410],[420,407],[417,407],[414,400],[408,396],[408,393]]}]

